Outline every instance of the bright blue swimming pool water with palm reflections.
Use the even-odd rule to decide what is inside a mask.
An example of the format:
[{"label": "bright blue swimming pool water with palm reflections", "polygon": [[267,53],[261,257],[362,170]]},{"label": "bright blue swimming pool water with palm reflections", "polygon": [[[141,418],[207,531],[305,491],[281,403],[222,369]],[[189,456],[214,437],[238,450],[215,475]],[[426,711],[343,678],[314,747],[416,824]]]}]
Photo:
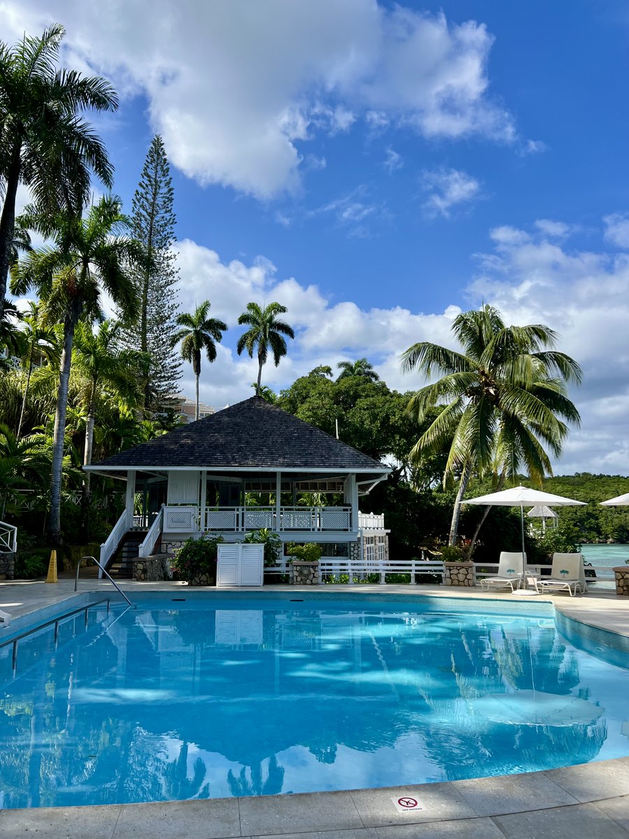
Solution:
[{"label": "bright blue swimming pool water with palm reflections", "polygon": [[95,607],[87,628],[68,620],[56,649],[44,629],[20,642],[14,676],[0,650],[0,806],[419,784],[629,755],[629,670],[570,646],[544,604],[535,618],[455,608],[153,599]]}]

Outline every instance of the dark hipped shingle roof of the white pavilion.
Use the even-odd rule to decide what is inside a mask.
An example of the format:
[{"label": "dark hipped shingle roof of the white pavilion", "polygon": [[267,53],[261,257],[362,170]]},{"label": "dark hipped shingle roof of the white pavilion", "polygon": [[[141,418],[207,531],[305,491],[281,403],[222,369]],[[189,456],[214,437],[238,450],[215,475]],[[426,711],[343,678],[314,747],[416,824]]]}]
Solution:
[{"label": "dark hipped shingle roof of the white pavilion", "polygon": [[379,472],[387,466],[253,396],[92,465],[194,469],[338,469]]}]

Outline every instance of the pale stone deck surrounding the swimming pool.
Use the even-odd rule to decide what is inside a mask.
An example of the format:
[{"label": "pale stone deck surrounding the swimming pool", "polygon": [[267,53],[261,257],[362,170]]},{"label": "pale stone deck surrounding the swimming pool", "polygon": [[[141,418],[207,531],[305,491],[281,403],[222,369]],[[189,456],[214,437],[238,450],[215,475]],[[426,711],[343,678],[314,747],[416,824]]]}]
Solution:
[{"label": "pale stone deck surrounding the swimming pool", "polygon": [[[182,591],[179,583],[121,582],[133,600],[139,591]],[[436,586],[325,586],[326,591],[429,594],[434,597],[511,599],[511,594]],[[273,586],[274,591],[313,591]],[[112,585],[81,580],[79,591],[112,592]],[[229,591],[222,589],[221,591]],[[237,591],[260,591],[238,589]],[[74,579],[0,582],[0,609],[14,617],[74,595]],[[113,591],[114,597],[119,597]],[[551,601],[569,618],[629,637],[629,598],[590,589],[583,597],[518,597]],[[629,718],[629,697],[627,697]],[[0,759],[2,757],[0,756]],[[399,812],[395,800],[418,801]],[[0,810],[0,836],[47,839],[627,839],[629,758],[547,772],[388,789],[175,801],[158,804]]]}]

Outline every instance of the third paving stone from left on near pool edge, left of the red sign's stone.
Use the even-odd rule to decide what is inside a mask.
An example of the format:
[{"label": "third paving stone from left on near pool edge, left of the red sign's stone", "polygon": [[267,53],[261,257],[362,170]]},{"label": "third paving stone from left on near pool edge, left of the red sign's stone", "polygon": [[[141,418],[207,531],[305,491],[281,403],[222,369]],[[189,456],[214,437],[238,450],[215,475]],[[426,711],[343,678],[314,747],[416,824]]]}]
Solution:
[{"label": "third paving stone from left on near pool edge, left of the red sign's stone", "polygon": [[363,826],[348,792],[261,795],[238,801],[242,832],[251,836],[348,830]]}]

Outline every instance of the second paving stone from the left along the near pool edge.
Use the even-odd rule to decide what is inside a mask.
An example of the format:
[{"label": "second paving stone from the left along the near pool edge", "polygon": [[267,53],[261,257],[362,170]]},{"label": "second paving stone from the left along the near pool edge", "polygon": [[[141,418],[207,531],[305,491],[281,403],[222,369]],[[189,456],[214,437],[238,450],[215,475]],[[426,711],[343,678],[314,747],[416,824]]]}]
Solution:
[{"label": "second paving stone from the left along the near pool edge", "polygon": [[113,839],[240,836],[237,798],[122,805]]}]

